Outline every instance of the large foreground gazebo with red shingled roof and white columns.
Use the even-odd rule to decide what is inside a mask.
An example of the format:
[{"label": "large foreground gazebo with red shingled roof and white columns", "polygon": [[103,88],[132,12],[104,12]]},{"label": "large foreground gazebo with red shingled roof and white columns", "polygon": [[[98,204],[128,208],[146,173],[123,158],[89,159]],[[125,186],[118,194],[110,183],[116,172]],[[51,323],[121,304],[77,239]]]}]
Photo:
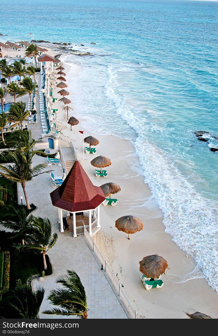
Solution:
[{"label": "large foreground gazebo with red shingled roof and white columns", "polygon": [[[62,210],[67,210],[70,213],[69,215],[73,217],[73,237],[83,233],[83,228],[80,227],[77,230],[79,228],[76,226],[77,213],[88,213],[87,228],[89,235],[93,234],[96,227],[101,227],[100,205],[104,202],[105,196],[100,187],[93,185],[79,161],[75,161],[62,185],[51,192],[50,197],[53,206],[58,208],[61,232],[64,232]],[[97,219],[92,222],[92,213],[96,213],[96,209]]]}]

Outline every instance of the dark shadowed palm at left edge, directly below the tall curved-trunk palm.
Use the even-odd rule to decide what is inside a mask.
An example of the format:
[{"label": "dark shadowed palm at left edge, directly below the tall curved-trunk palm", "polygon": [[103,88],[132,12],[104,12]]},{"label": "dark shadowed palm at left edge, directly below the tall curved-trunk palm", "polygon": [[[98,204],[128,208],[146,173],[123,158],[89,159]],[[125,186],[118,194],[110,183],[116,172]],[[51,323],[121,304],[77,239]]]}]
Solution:
[{"label": "dark shadowed palm at left edge, directly below the tall curved-trunk palm", "polygon": [[16,232],[14,237],[20,237],[24,245],[24,239],[28,238],[29,228],[32,227],[32,216],[28,217],[28,212],[23,206],[8,206],[7,211],[1,216],[0,224]]}]

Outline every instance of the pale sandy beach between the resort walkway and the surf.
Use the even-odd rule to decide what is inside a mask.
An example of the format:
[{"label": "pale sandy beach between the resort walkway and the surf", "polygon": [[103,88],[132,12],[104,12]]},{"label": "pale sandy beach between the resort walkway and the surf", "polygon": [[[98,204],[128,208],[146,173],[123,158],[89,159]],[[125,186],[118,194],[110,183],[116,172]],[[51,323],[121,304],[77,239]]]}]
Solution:
[{"label": "pale sandy beach between the resort walkway and the surf", "polygon": [[[70,67],[64,62],[63,64],[67,73],[66,83],[69,86],[70,80],[79,74],[80,67],[77,65]],[[58,90],[58,88],[53,89],[54,97],[59,96]],[[72,101],[70,105],[74,108],[73,93],[70,92],[67,97]],[[79,119],[80,123],[73,126],[70,131],[61,103],[53,103],[52,108],[54,107],[59,108],[55,122],[59,132],[61,131],[60,136],[64,137],[60,139],[61,146],[62,144],[68,145],[67,141],[72,139],[78,159],[82,162],[83,137],[78,131],[84,130],[85,136],[93,135],[100,140],[99,145],[96,146],[96,156],[105,155],[111,159],[112,164],[108,167],[108,177],[103,180],[95,177],[94,167],[90,165],[90,160],[95,156],[84,153],[83,168],[95,185],[115,182],[121,187],[121,192],[115,195],[118,199],[117,205],[101,207],[102,229],[94,236],[94,240],[105,259],[112,265],[114,275],[117,275],[119,282],[124,286],[123,290],[134,304],[138,314],[144,318],[169,318],[170,316],[171,318],[184,318],[183,311],[192,308],[204,311],[214,318],[218,317],[216,292],[207,284],[194,259],[187,258],[186,252],[181,250],[172,241],[172,236],[165,232],[162,212],[152,197],[148,185],[144,183],[139,158],[135,154],[133,144],[113,135],[98,135],[87,131],[82,126],[84,119]],[[73,115],[76,116],[75,109]],[[121,158],[120,153],[122,153]],[[128,159],[130,157],[131,162]],[[138,173],[134,170],[136,167],[139,167]],[[115,228],[115,220],[127,214],[139,217],[144,223],[143,230],[132,235],[130,241],[124,233],[118,232]],[[147,292],[140,279],[138,263],[145,255],[155,253],[168,261],[171,270],[168,270],[166,276],[161,277],[164,282],[163,289]],[[193,273],[197,278],[191,276]],[[199,289],[202,290],[201,297],[199,297]],[[179,297],[178,291],[180,292]],[[172,302],[173,297],[177,297],[177,302]],[[146,307],[143,306],[145,300]],[[153,305],[153,302],[156,304]]]}]

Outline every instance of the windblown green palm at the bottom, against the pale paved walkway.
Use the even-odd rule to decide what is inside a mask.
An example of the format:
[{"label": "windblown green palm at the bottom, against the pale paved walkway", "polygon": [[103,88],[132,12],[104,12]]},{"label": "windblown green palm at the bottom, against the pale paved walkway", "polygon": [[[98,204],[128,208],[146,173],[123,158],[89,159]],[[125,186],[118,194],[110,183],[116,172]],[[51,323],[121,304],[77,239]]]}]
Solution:
[{"label": "windblown green palm at the bottom, against the pale paved walkway", "polygon": [[60,308],[51,308],[43,314],[56,314],[63,316],[77,315],[80,319],[87,319],[87,302],[84,287],[75,271],[67,271],[68,276],[62,276],[56,282],[62,284],[64,289],[53,289],[48,296],[52,304]]}]

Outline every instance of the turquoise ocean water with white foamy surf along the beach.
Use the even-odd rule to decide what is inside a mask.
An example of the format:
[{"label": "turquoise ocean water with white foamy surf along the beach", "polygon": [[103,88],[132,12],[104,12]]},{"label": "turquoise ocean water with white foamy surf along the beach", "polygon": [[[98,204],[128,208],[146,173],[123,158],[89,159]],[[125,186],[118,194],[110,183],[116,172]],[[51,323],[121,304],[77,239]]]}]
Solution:
[{"label": "turquoise ocean water with white foamy surf along the beach", "polygon": [[34,33],[95,54],[64,56],[81,66],[69,83],[75,115],[87,119],[89,130],[133,142],[166,231],[215,290],[218,152],[193,131],[218,136],[217,7],[210,1],[1,0],[0,8],[0,33],[8,34],[1,41],[30,40]]}]

